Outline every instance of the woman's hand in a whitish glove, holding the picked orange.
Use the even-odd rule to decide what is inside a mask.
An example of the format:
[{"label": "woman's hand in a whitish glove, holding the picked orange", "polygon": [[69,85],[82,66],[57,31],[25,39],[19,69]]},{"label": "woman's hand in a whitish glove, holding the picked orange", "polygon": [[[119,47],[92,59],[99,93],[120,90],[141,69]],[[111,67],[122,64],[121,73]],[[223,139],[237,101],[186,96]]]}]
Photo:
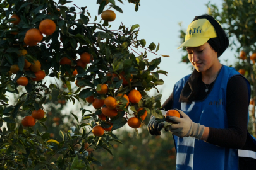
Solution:
[{"label": "woman's hand in a whitish glove, holding the picked orange", "polygon": [[168,130],[178,137],[195,137],[201,139],[204,133],[204,125],[200,123],[194,123],[186,113],[176,109],[182,118],[174,116],[166,116],[166,120],[174,122],[169,125]]}]

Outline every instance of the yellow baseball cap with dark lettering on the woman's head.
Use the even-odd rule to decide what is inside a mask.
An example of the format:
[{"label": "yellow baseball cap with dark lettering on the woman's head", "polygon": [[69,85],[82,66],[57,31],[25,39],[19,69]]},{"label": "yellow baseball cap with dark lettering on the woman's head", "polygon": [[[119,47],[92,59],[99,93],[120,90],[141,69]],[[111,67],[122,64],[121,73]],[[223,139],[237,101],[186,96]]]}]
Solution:
[{"label": "yellow baseball cap with dark lettering on the woman's head", "polygon": [[207,19],[198,19],[188,25],[185,42],[181,47],[198,47],[204,45],[210,38],[216,38],[214,26]]}]

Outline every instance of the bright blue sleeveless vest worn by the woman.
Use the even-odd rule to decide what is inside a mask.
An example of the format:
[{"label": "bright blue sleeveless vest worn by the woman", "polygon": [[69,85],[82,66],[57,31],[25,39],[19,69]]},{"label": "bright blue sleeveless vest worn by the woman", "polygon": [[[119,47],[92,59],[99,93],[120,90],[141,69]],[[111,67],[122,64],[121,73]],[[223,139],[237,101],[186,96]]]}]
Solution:
[{"label": "bright blue sleeveless vest worn by the woman", "polygon": [[[193,122],[206,127],[228,128],[226,116],[226,91],[231,77],[240,74],[234,68],[223,66],[214,82],[210,93],[204,101],[180,103],[181,90],[190,75],[183,77],[174,86],[173,108],[186,113]],[[247,81],[247,79],[245,79]],[[250,101],[250,83],[247,81]],[[248,103],[249,104],[249,103]],[[236,170],[238,169],[238,149],[219,147],[193,137],[176,137],[176,169],[182,170]],[[254,139],[253,139],[254,140]],[[256,169],[256,167],[255,167]]]}]

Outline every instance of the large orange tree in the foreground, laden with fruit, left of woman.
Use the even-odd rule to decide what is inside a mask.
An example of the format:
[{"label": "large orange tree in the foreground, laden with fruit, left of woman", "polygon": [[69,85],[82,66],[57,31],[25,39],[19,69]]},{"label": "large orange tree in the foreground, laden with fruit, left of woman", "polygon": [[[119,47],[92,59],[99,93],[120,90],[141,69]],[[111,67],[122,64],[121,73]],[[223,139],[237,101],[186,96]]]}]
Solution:
[{"label": "large orange tree in the foreground, laden with fruit, left of woman", "polygon": [[[3,169],[90,169],[90,164],[101,165],[94,150],[112,154],[113,142],[119,142],[113,130],[127,122],[138,128],[147,113],[162,118],[161,95],[146,93],[163,84],[159,74],[167,74],[159,68],[161,57],[147,59],[147,52],[157,52],[159,44],[145,47],[146,41],[137,39],[139,25],[108,30],[108,21],[115,18],[109,10],[122,13],[114,0],[95,1],[98,14],[106,5],[110,8],[102,16],[103,23],[96,23],[97,16],[90,21],[86,7],[65,6],[70,2],[1,1],[0,123],[6,123],[0,130]],[[129,2],[135,3],[137,11],[139,0]],[[138,47],[145,52],[136,52]],[[45,77],[59,79],[68,91],[59,91],[57,81],[47,84]],[[72,83],[78,88],[72,89]],[[17,86],[24,86],[26,92],[18,91]],[[57,99],[87,101],[96,109],[92,113],[81,106],[79,115],[72,113],[77,123],[67,133],[59,131],[61,140],[33,128],[37,124],[47,128],[44,122],[54,119],[44,104],[53,98],[54,90],[59,91]],[[20,94],[13,105],[8,93]],[[21,122],[19,116],[23,116]]]}]

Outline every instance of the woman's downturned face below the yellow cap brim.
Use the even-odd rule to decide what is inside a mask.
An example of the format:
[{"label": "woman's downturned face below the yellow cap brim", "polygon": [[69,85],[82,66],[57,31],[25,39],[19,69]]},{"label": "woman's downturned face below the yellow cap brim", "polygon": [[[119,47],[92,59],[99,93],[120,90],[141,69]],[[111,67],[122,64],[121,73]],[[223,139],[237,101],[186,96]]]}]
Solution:
[{"label": "woman's downturned face below the yellow cap brim", "polygon": [[198,72],[207,71],[219,62],[217,52],[207,42],[199,47],[186,47],[186,51],[188,52],[188,59]]}]

